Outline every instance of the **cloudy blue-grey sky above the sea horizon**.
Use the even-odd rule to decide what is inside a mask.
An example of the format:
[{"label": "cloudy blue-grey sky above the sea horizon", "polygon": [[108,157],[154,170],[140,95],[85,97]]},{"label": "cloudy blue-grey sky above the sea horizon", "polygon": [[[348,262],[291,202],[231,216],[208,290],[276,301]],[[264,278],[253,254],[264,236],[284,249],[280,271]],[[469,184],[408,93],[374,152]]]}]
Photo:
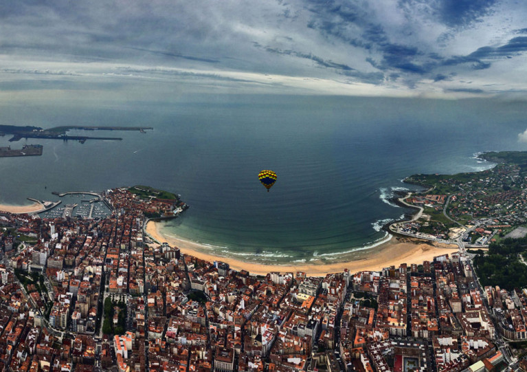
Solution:
[{"label": "cloudy blue-grey sky above the sea horizon", "polygon": [[0,99],[527,90],[524,0],[0,2]]}]

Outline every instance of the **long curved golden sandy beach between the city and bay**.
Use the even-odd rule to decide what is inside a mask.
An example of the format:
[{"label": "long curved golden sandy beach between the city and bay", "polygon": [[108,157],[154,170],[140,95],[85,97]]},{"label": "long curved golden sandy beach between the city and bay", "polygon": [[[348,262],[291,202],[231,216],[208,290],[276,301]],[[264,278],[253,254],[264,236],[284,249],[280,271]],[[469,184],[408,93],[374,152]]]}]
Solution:
[{"label": "long curved golden sandy beach between the city and bay", "polygon": [[247,270],[251,274],[265,275],[269,272],[306,272],[309,276],[324,276],[332,272],[342,272],[344,269],[350,272],[363,270],[381,270],[391,265],[399,266],[401,263],[421,264],[423,261],[432,261],[434,256],[458,252],[457,245],[414,242],[407,238],[392,237],[390,241],[368,250],[360,250],[346,256],[346,259],[337,263],[301,263],[299,265],[264,265],[232,259],[230,257],[215,256],[208,254],[208,248],[179,237],[166,237],[161,234],[161,223],[149,221],[146,233],[159,242],[166,242],[175,246],[184,254],[190,254],[205,261],[223,261],[229,263],[234,270]]}]

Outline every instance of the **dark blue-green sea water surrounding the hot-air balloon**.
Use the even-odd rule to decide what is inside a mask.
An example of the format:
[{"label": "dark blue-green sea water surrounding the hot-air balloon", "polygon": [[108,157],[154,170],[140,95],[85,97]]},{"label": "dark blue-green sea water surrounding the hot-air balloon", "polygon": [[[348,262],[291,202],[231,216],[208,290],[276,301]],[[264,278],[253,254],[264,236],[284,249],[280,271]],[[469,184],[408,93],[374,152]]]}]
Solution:
[{"label": "dark blue-green sea water surrounding the hot-air balloon", "polygon": [[[190,206],[164,232],[265,263],[327,261],[386,239],[414,173],[480,171],[481,151],[524,150],[524,102],[314,96],[201,97],[168,104],[4,107],[2,124],[153,127],[71,131],[122,141],[21,140],[40,157],[0,158],[0,201],[150,185]],[[269,193],[258,173],[278,175]]]}]

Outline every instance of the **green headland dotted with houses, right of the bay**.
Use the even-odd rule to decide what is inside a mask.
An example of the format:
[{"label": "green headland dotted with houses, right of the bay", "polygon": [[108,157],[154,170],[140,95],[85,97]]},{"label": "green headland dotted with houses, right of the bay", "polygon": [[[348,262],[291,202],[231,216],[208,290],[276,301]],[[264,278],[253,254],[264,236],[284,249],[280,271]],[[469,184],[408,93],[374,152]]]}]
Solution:
[{"label": "green headland dotted with houses, right of the bay", "polygon": [[463,250],[486,248],[504,237],[527,234],[527,153],[482,153],[481,160],[497,163],[491,169],[456,175],[411,175],[408,184],[427,188],[399,199],[418,212],[410,221],[390,225],[390,232],[441,243]]}]

